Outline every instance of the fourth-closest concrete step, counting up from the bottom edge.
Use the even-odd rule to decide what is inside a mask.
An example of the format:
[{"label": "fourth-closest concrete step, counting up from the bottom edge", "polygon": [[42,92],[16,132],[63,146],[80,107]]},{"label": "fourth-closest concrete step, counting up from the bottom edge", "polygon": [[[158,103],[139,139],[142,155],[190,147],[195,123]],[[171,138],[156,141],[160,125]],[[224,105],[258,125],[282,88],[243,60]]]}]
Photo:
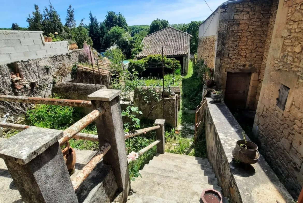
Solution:
[{"label": "fourth-closest concrete step, counting up from the bottom edge", "polygon": [[155,160],[150,160],[148,165],[155,166],[157,168],[161,169],[168,169],[168,170],[175,170],[175,171],[180,171],[180,172],[186,172],[189,174],[196,174],[196,175],[205,175],[208,177],[214,177],[215,178],[215,173],[212,171],[212,169],[193,169],[193,168],[188,168],[180,165],[172,165],[172,164],[166,164],[163,162],[158,162]]}]

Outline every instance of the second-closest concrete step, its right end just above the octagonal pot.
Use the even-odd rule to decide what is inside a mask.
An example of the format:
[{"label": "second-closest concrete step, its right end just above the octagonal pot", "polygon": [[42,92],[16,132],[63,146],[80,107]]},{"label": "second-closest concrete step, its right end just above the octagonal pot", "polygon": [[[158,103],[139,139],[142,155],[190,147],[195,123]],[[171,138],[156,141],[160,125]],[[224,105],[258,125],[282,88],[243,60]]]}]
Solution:
[{"label": "second-closest concrete step, its right end just above the octagonal pot", "polygon": [[168,174],[160,175],[158,173],[152,173],[148,171],[140,171],[140,174],[142,175],[142,179],[151,182],[159,182],[162,185],[168,185],[168,186],[178,185],[178,187],[180,188],[190,189],[197,192],[202,192],[204,189],[208,189],[208,188],[215,189],[221,192],[221,187],[218,187],[217,185],[208,184],[207,179],[205,182],[193,182],[189,180],[184,181],[184,179],[180,179],[180,178],[174,178],[168,176]]}]

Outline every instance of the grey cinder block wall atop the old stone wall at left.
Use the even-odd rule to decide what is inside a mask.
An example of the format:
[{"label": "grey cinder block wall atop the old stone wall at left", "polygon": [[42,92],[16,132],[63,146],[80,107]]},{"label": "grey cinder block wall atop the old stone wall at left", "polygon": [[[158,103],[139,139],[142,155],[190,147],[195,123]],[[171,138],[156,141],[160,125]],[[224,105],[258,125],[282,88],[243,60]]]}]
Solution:
[{"label": "grey cinder block wall atop the old stone wall at left", "polygon": [[68,42],[45,42],[42,31],[0,31],[0,64],[69,52]]}]

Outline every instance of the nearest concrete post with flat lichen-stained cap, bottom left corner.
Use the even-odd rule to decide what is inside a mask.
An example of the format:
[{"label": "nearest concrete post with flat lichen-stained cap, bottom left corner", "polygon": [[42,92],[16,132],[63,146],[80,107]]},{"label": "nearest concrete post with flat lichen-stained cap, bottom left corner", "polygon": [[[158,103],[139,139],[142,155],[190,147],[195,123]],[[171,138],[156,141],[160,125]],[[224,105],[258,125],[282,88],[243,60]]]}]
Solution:
[{"label": "nearest concrete post with flat lichen-stained cap, bottom left corner", "polygon": [[0,143],[25,203],[78,203],[58,142],[63,131],[29,127]]}]

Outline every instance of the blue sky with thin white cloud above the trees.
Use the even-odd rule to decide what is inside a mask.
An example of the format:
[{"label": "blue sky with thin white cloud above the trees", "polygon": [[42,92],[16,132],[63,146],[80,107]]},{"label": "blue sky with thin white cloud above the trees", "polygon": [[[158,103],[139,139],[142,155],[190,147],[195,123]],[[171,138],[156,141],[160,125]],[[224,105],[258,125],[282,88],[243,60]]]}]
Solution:
[{"label": "blue sky with thin white cloud above the trees", "polygon": [[[214,11],[226,0],[206,0]],[[83,1],[83,0],[51,0],[52,5],[65,23],[66,10],[71,4],[75,9],[76,23],[85,18],[88,24],[88,14],[103,21],[107,11],[121,12],[128,25],[150,25],[156,18],[168,20],[170,24],[189,23],[190,21],[205,20],[211,11],[204,0],[110,0],[110,1]],[[27,27],[26,18],[34,11],[34,4],[38,4],[42,12],[48,5],[45,0],[0,0],[0,28],[10,28],[12,23]]]}]

